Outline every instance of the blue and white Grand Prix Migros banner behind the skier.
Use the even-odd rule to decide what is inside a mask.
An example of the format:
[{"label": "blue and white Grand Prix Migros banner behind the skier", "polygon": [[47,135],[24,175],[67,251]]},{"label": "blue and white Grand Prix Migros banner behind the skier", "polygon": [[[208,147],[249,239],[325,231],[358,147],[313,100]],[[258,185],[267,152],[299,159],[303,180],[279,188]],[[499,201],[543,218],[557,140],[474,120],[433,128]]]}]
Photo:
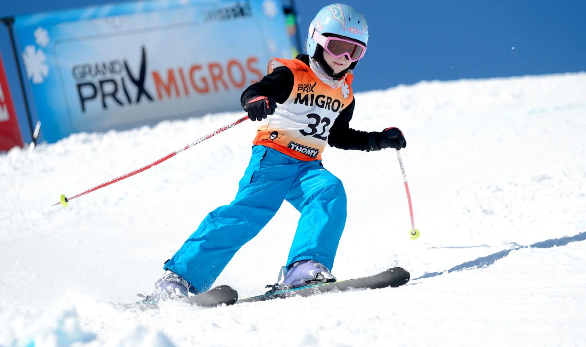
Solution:
[{"label": "blue and white Grand Prix Migros banner behind the skier", "polygon": [[276,0],[155,0],[18,16],[43,138],[240,108],[291,57]]}]

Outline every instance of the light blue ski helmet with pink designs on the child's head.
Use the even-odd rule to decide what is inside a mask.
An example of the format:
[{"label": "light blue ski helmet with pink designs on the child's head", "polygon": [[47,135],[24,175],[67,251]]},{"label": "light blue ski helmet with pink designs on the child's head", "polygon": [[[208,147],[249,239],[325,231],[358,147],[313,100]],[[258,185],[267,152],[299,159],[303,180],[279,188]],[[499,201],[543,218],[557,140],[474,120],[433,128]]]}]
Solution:
[{"label": "light blue ski helmet with pink designs on the child's head", "polygon": [[[368,43],[368,23],[362,13],[352,6],[345,4],[332,4],[319,10],[314,20],[313,27],[322,35],[335,34],[346,36],[358,42]],[[311,28],[311,26],[310,26]],[[318,43],[311,38],[313,30],[309,30],[307,36],[307,54],[313,57]]]}]

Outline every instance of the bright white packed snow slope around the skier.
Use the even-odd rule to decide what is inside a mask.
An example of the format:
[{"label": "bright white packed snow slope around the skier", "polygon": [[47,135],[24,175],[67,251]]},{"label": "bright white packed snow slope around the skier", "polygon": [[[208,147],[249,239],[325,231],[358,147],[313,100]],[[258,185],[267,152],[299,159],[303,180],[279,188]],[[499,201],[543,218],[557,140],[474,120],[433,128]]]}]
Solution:
[{"label": "bright white packed snow slope around the skier", "polygon": [[[586,74],[421,82],[356,95],[350,123],[397,126],[394,150],[328,147],[348,218],[339,279],[401,266],[401,288],[199,310],[121,312],[207,214],[251,153],[247,121],[168,162],[70,202],[243,116],[81,133],[0,155],[0,345],[586,346]],[[271,194],[267,191],[267,194]],[[297,226],[285,202],[216,284],[275,283]],[[528,247],[531,246],[531,247]],[[51,344],[53,343],[53,344]]]}]

